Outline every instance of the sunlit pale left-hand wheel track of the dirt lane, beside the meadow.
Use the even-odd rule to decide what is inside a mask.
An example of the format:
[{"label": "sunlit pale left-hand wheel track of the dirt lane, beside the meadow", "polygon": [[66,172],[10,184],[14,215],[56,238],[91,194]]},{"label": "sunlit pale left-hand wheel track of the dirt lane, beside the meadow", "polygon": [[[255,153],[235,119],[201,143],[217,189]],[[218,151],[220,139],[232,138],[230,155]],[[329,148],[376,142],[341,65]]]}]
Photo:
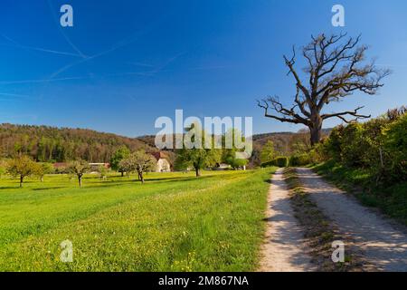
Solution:
[{"label": "sunlit pale left-hand wheel track of the dirt lane, beside the meadow", "polygon": [[301,227],[289,202],[289,190],[282,169],[271,179],[267,242],[261,248],[261,272],[304,272],[314,270],[303,246]]}]

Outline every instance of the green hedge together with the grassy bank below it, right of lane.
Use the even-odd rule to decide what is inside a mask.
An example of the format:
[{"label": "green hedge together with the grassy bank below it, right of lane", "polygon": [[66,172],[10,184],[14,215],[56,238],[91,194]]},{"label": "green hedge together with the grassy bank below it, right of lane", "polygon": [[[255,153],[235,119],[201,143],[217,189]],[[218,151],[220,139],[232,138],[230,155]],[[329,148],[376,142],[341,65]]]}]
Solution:
[{"label": "green hedge together with the grassy bank below it, right of lane", "polygon": [[339,126],[320,145],[319,173],[356,197],[407,223],[407,114],[406,109],[365,123]]}]

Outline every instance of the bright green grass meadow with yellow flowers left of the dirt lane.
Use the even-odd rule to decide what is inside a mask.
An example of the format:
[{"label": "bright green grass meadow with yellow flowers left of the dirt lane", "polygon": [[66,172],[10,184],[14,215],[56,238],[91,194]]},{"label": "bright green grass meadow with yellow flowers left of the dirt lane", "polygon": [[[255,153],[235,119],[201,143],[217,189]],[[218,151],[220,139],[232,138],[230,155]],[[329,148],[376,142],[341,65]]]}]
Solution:
[{"label": "bright green grass meadow with yellow flowers left of the dirt lane", "polygon": [[2,179],[0,271],[254,270],[272,170]]}]

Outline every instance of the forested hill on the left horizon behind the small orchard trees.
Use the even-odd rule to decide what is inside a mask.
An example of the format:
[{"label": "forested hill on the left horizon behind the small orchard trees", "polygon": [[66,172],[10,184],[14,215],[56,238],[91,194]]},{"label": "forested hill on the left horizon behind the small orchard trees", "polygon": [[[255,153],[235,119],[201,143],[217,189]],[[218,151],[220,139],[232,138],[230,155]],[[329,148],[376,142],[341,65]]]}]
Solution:
[{"label": "forested hill on the left horizon behind the small orchard trees", "polygon": [[0,158],[21,152],[43,162],[76,159],[108,162],[123,145],[130,150],[153,150],[141,140],[86,129],[0,125]]}]

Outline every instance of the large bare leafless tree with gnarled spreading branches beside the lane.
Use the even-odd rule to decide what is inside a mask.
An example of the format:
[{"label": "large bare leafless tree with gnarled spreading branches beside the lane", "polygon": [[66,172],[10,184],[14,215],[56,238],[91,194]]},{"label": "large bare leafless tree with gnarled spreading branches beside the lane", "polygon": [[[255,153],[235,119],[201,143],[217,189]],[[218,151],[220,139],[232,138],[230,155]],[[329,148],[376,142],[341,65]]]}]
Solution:
[{"label": "large bare leafless tree with gnarled spreading branches beside the lane", "polygon": [[315,145],[321,140],[323,121],[339,118],[350,122],[371,117],[359,113],[362,106],[350,111],[323,113],[327,104],[339,102],[357,91],[374,95],[390,71],[377,68],[374,61],[365,62],[368,47],[359,45],[360,36],[320,34],[311,37],[311,43],[301,49],[307,63],[302,70],[304,77],[295,67],[296,49],[293,47],[291,58],[284,55],[288,75],[291,74],[296,82],[297,93],[292,105],[286,107],[278,96],[258,101],[258,105],[268,118],[307,126],[311,144]]}]

